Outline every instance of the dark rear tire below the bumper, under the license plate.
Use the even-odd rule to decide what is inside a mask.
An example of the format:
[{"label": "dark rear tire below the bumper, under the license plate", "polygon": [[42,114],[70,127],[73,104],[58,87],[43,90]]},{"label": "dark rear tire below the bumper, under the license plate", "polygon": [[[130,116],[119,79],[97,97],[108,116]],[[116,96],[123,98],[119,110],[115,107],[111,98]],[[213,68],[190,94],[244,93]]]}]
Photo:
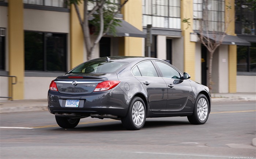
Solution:
[{"label": "dark rear tire below the bumper, under the license plate", "polygon": [[80,119],[70,119],[60,116],[55,116],[57,124],[62,128],[74,128],[78,125]]}]

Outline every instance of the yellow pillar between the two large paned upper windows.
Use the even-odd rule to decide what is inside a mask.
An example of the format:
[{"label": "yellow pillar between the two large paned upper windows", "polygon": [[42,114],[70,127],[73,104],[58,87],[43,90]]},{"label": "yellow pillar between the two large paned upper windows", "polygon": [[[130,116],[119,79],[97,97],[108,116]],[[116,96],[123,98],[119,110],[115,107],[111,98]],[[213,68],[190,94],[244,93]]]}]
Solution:
[{"label": "yellow pillar between the two large paned upper windows", "polygon": [[[190,18],[190,19],[189,19]],[[191,25],[181,23],[182,35],[184,37],[184,71],[189,73],[192,80],[195,80],[195,50],[196,43],[190,41],[190,33],[193,32],[193,1],[181,0],[181,20],[189,19]]]}]

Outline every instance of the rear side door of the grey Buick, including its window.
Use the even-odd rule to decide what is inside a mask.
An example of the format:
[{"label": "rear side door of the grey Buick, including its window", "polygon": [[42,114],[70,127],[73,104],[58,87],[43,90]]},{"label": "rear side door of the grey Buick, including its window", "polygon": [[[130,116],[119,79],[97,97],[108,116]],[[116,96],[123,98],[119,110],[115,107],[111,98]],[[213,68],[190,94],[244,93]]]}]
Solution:
[{"label": "rear side door of the grey Buick, including its window", "polygon": [[140,81],[147,92],[152,112],[165,113],[167,103],[167,87],[162,77],[159,77],[153,63],[144,61],[132,69],[136,79]]}]

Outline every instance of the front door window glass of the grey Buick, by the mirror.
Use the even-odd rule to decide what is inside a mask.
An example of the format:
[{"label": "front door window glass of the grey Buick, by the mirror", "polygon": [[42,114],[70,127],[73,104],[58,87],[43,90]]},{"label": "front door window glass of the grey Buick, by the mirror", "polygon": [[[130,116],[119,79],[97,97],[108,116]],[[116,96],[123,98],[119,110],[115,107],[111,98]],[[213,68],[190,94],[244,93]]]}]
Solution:
[{"label": "front door window glass of the grey Buick, by the mirror", "polygon": [[171,67],[170,65],[167,65],[167,64],[159,62],[159,61],[155,61],[155,63],[160,68],[160,71],[162,72],[163,77],[181,79],[180,73],[176,69]]}]

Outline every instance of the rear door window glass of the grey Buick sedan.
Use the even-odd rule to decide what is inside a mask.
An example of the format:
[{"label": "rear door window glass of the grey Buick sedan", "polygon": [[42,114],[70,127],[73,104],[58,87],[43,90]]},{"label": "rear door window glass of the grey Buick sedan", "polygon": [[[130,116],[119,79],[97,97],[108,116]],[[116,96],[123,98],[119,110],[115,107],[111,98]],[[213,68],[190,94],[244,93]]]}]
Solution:
[{"label": "rear door window glass of the grey Buick sedan", "polygon": [[158,77],[157,71],[151,61],[142,62],[137,65],[142,76]]}]

